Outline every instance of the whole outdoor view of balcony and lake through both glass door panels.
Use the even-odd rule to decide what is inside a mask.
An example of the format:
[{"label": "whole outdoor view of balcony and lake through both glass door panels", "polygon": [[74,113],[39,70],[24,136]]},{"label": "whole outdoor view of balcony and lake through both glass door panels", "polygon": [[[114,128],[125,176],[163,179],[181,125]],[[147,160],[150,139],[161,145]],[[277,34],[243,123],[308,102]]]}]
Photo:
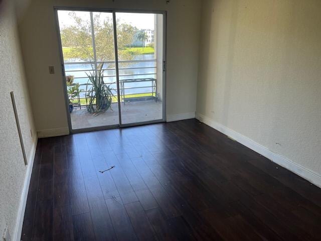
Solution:
[{"label": "whole outdoor view of balcony and lake through both glass door panels", "polygon": [[164,121],[163,14],[57,16],[71,131]]}]

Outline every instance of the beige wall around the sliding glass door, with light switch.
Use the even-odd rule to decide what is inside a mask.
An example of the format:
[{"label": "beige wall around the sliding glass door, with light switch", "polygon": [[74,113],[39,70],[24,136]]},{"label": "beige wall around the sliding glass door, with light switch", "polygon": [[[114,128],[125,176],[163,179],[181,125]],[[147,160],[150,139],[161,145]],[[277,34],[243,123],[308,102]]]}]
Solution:
[{"label": "beige wall around the sliding glass door, with light switch", "polygon": [[[54,6],[168,11],[167,114],[196,110],[201,5],[195,0],[30,0],[19,30],[37,131],[68,128]],[[49,74],[48,66],[56,73]],[[179,90],[179,91],[178,91]]]}]

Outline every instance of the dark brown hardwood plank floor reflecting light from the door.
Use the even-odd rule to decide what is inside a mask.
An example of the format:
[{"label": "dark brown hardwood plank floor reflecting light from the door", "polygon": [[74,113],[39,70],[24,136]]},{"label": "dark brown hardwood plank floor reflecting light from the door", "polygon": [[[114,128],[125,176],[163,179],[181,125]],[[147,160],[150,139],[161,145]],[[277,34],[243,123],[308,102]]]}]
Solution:
[{"label": "dark brown hardwood plank floor reflecting light from the door", "polygon": [[321,240],[321,189],[196,119],[46,138],[21,238]]}]

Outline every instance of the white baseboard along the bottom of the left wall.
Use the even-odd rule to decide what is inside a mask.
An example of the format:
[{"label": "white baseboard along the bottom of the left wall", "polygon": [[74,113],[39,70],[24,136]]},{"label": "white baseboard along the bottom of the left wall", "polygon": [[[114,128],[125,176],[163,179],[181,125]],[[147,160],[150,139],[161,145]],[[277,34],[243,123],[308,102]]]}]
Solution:
[{"label": "white baseboard along the bottom of the left wall", "polygon": [[28,165],[27,165],[25,182],[24,182],[22,194],[20,197],[20,204],[18,207],[18,216],[17,216],[17,221],[16,221],[16,227],[15,227],[15,230],[13,233],[13,238],[12,238],[13,241],[19,241],[20,237],[21,237],[22,225],[24,223],[24,216],[25,216],[25,210],[26,210],[26,204],[27,204],[29,184],[30,184],[30,179],[31,179],[32,168],[34,165],[37,142],[38,142],[38,140],[36,140],[36,142],[34,143],[32,149],[31,149],[31,154],[28,158]]}]

